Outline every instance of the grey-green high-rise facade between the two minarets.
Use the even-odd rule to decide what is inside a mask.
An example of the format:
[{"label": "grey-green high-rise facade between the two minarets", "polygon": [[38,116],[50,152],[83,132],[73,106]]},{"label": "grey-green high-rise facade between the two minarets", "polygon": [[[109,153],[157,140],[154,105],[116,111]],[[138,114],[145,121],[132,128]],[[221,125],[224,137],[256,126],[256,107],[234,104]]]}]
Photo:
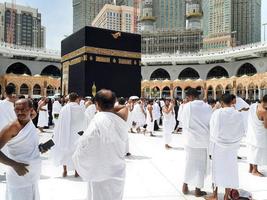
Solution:
[{"label": "grey-green high-rise facade between the two minarets", "polygon": [[180,30],[186,25],[185,0],[153,0],[156,29]]}]

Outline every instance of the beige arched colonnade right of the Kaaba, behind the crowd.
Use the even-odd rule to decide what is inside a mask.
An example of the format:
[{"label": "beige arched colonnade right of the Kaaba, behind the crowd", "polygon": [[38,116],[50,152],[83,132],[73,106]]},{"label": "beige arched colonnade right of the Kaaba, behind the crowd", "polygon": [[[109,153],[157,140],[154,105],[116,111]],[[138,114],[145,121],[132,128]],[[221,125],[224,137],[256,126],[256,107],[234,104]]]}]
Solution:
[{"label": "beige arched colonnade right of the Kaaba, behind the crowd", "polygon": [[198,89],[203,98],[219,99],[222,94],[230,93],[248,100],[261,99],[267,94],[267,72],[253,76],[213,78],[210,80],[144,80],[142,97],[144,98],[185,98],[189,87]]}]

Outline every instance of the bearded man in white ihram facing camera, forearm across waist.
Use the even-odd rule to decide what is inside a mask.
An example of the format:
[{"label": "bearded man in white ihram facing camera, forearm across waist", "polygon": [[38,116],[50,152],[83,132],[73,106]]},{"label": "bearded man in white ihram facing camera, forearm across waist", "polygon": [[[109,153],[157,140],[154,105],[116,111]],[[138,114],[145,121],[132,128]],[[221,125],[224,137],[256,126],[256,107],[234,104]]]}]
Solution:
[{"label": "bearded man in white ihram facing camera, forearm across waist", "polygon": [[0,132],[0,162],[7,165],[7,200],[39,200],[38,181],[41,159],[39,137],[31,120],[32,102],[21,99],[15,103],[17,120]]}]

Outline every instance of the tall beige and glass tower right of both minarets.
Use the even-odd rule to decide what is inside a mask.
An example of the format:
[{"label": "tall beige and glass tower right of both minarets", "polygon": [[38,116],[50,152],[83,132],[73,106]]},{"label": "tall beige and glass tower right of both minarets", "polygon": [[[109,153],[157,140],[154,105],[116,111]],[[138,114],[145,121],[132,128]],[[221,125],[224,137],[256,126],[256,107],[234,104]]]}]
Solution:
[{"label": "tall beige and glass tower right of both minarets", "polygon": [[204,0],[203,10],[204,48],[225,48],[261,40],[261,0]]}]

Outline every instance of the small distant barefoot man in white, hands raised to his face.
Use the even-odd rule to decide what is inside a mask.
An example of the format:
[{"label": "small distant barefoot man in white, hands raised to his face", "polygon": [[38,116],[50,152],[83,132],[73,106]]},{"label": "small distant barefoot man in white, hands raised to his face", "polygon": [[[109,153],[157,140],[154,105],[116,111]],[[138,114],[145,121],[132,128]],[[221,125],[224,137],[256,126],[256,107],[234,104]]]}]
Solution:
[{"label": "small distant barefoot man in white, hands raised to his face", "polygon": [[175,128],[175,113],[174,113],[174,102],[169,99],[164,101],[164,106],[162,108],[162,125],[163,125],[163,138],[165,142],[165,148],[170,149],[170,143],[172,141],[172,132]]}]

